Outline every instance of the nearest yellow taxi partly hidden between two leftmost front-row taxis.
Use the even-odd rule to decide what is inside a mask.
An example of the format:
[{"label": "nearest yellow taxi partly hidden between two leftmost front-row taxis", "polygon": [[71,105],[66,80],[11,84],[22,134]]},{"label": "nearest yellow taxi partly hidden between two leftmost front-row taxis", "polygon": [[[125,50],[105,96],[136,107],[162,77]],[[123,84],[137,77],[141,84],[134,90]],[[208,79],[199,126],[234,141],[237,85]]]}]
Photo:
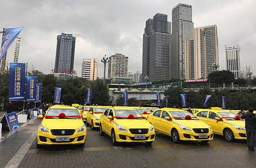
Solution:
[{"label": "nearest yellow taxi partly hidden between two leftmost front-row taxis", "polygon": [[87,112],[86,126],[92,125],[92,130],[99,127],[99,117],[105,112],[106,106],[92,106]]}]

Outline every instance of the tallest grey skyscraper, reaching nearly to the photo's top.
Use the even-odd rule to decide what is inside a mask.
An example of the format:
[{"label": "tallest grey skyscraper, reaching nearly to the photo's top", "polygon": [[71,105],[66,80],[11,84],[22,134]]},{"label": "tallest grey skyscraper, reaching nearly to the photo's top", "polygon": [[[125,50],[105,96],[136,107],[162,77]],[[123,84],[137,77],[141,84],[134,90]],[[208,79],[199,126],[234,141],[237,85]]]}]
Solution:
[{"label": "tallest grey skyscraper, reaching nearly to the photo's top", "polygon": [[185,46],[188,38],[193,38],[192,6],[179,3],[172,9],[170,77],[185,79]]}]

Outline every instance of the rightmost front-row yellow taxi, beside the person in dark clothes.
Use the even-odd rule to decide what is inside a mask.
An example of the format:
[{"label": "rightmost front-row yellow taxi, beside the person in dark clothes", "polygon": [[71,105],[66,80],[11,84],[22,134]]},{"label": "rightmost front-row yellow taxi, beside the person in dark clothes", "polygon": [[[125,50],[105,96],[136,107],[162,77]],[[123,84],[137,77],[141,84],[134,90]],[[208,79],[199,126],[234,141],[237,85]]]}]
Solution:
[{"label": "rightmost front-row yellow taxi, beside the person in dark clothes", "polygon": [[214,134],[224,136],[227,141],[234,139],[246,140],[245,120],[233,112],[221,108],[212,108],[194,114],[197,118],[210,125]]}]

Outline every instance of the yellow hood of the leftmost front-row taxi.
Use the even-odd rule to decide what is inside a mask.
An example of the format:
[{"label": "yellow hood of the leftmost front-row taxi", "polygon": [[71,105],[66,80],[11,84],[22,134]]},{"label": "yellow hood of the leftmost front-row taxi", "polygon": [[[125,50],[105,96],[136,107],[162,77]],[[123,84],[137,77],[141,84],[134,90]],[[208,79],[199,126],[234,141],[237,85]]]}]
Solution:
[{"label": "yellow hood of the leftmost front-row taxi", "polygon": [[82,127],[84,122],[82,119],[66,119],[66,118],[44,118],[42,123],[44,127],[51,129],[75,129]]}]

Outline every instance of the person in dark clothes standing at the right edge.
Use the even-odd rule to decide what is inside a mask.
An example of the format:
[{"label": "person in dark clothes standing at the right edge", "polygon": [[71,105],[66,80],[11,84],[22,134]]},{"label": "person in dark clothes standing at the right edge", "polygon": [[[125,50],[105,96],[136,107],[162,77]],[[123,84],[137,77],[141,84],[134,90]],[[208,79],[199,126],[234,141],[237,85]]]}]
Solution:
[{"label": "person in dark clothes standing at the right edge", "polygon": [[253,113],[254,109],[249,108],[248,112],[245,112],[241,118],[245,119],[245,129],[247,136],[247,146],[248,150],[255,151],[255,135],[256,135],[256,114]]}]

